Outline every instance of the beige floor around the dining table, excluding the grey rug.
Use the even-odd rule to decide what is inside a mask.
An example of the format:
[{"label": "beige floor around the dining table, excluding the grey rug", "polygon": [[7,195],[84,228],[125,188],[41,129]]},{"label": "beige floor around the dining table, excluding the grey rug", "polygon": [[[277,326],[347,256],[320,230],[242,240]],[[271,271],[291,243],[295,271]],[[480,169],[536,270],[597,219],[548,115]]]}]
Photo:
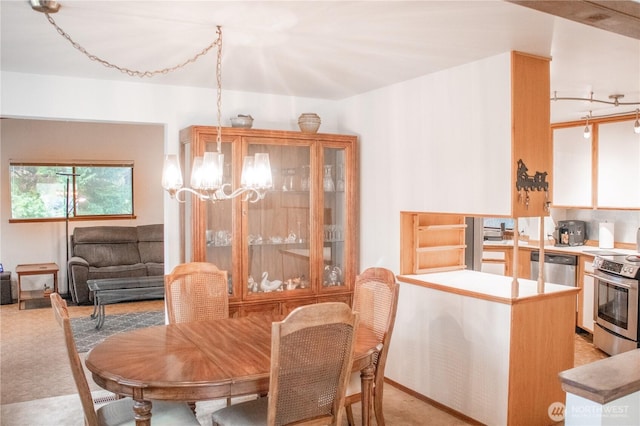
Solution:
[{"label": "beige floor around the dining table, excluding the grey rug", "polygon": [[[109,305],[105,327],[118,314],[163,309],[163,300]],[[69,307],[72,318],[87,318],[92,310],[92,306]],[[17,304],[1,305],[0,335],[0,425],[82,425],[82,408],[50,305],[25,310],[18,310]],[[588,337],[576,334],[576,366],[606,357]],[[83,363],[85,356],[80,354]],[[87,377],[94,395],[108,394],[93,383],[88,371]],[[202,424],[210,425],[210,413],[223,405],[221,401],[199,402],[196,413]],[[359,410],[359,404],[354,405],[356,424]],[[470,424],[391,385],[385,386],[384,411],[388,425]]]}]

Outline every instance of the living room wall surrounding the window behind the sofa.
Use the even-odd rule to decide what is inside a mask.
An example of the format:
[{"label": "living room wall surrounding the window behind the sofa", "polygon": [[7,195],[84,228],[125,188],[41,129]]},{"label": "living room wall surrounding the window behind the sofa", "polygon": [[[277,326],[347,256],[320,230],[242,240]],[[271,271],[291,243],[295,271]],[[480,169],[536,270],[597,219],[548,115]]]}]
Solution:
[{"label": "living room wall surrounding the window behind the sofa", "polygon": [[[11,160],[61,163],[80,161],[132,161],[134,163],[133,193],[136,219],[112,221],[70,221],[69,234],[77,226],[136,226],[163,222],[162,188],[157,181],[162,174],[164,128],[162,125],[90,123],[80,121],[5,119],[0,122],[5,161],[0,165],[2,176],[9,176]],[[56,222],[16,222],[11,218],[10,182],[2,180],[0,216],[2,221],[2,263],[15,271],[20,263],[55,262],[61,293],[67,292],[66,224]],[[61,197],[64,197],[61,194]],[[33,276],[23,280],[25,289],[52,284],[51,276]],[[17,296],[17,295],[16,295]]]}]

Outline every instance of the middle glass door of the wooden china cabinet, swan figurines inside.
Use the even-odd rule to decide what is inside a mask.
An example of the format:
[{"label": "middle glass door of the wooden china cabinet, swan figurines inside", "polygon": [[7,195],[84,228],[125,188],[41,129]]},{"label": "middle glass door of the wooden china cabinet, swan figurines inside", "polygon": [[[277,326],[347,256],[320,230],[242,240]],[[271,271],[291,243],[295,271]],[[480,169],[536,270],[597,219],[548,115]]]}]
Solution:
[{"label": "middle glass door of the wooden china cabinet, swan figurines inside", "polygon": [[263,200],[244,202],[245,294],[267,297],[267,293],[274,292],[309,293],[310,145],[289,143],[285,146],[277,140],[259,138],[248,142],[248,155],[269,154],[273,189]]}]

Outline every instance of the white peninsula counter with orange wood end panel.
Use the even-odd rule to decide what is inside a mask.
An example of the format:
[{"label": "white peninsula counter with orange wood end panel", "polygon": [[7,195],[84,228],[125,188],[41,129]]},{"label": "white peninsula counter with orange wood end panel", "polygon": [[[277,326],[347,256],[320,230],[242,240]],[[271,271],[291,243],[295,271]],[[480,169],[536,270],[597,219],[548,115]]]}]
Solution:
[{"label": "white peninsula counter with orange wood end panel", "polygon": [[398,276],[385,376],[482,424],[550,424],[573,367],[576,287],[471,270]]}]

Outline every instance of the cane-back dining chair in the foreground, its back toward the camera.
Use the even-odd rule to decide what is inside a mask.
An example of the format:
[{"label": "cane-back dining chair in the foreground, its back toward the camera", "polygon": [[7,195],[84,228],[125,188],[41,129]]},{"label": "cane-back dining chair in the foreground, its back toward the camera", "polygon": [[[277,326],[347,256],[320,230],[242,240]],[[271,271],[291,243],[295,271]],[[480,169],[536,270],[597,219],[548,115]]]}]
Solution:
[{"label": "cane-back dining chair in the foreground, its back toward the camera", "polygon": [[214,412],[214,426],[341,425],[358,316],[326,302],[274,322],[269,395]]}]

